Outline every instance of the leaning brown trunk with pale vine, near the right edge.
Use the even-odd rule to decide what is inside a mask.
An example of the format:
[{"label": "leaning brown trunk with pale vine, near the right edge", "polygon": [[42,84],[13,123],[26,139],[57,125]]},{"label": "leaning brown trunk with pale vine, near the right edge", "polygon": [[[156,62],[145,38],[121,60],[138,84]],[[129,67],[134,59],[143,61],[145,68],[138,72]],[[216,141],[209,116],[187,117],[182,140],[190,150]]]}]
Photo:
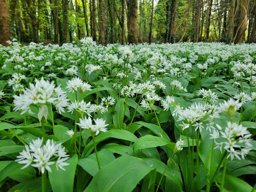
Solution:
[{"label": "leaning brown trunk with pale vine, near the right edge", "polygon": [[243,43],[244,31],[247,27],[247,10],[248,10],[249,0],[241,1],[241,12],[239,17],[239,25],[236,31],[235,43]]}]

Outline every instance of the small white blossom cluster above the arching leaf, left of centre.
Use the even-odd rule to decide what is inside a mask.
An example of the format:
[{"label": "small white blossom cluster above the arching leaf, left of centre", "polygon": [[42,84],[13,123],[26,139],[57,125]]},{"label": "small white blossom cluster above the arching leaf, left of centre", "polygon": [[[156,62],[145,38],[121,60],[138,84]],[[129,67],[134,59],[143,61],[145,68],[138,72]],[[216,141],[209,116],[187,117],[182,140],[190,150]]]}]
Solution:
[{"label": "small white blossom cluster above the arching leaf, left of centre", "polygon": [[107,132],[106,126],[108,126],[108,124],[106,124],[103,118],[94,119],[94,123],[95,124],[92,124],[91,117],[84,119],[79,118],[79,123],[77,123],[77,125],[79,125],[82,129],[90,130],[95,135],[98,135],[100,131]]}]

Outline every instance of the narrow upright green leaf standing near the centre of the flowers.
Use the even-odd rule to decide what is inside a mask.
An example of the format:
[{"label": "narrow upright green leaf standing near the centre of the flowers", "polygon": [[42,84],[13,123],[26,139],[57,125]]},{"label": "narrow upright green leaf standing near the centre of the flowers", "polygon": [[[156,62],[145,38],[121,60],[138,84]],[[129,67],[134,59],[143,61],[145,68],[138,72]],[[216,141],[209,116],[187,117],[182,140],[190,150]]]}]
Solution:
[{"label": "narrow upright green leaf standing near the centre of the flowers", "polygon": [[123,128],[124,122],[124,101],[125,99],[119,99],[116,103],[115,114],[113,117],[113,123],[117,129],[121,130]]}]

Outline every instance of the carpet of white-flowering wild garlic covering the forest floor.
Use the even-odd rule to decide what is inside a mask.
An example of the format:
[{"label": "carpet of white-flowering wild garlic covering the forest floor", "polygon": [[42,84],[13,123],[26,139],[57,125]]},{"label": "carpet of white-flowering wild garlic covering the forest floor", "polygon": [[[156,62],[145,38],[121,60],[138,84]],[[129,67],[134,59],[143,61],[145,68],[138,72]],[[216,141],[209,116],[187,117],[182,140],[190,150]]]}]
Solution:
[{"label": "carpet of white-flowering wild garlic covering the forest floor", "polygon": [[4,191],[254,191],[256,45],[0,47]]}]

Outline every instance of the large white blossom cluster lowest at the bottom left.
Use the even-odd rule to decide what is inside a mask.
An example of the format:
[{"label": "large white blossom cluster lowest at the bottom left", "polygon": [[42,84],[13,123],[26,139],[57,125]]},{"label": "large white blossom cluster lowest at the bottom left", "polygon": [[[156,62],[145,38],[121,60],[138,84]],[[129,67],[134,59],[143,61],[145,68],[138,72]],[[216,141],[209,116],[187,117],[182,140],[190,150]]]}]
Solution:
[{"label": "large white blossom cluster lowest at the bottom left", "polygon": [[[44,173],[45,170],[52,172],[50,165],[56,164],[57,170],[63,166],[69,165],[65,161],[69,155],[65,152],[65,147],[61,147],[61,143],[56,144],[53,140],[47,140],[43,145],[43,139],[36,139],[25,146],[26,149],[20,152],[16,162],[26,164],[21,169],[25,169],[29,165],[37,167],[39,172]],[[57,158],[57,161],[55,159]]]}]

